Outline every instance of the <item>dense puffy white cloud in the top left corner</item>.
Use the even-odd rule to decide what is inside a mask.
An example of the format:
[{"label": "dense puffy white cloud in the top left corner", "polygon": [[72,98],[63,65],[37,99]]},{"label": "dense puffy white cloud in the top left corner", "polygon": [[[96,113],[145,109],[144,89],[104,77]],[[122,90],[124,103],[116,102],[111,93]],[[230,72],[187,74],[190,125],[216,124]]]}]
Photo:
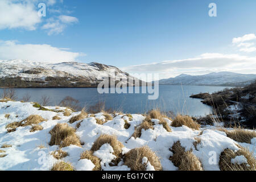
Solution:
[{"label": "dense puffy white cloud in the top left corner", "polygon": [[35,30],[41,19],[35,6],[29,2],[0,1],[0,29],[24,28]]}]

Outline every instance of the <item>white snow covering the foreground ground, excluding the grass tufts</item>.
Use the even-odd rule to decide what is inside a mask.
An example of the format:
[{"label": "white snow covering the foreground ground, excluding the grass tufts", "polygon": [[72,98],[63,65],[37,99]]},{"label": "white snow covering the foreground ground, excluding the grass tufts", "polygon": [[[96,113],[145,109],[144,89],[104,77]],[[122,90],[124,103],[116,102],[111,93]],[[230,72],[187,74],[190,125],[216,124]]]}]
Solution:
[{"label": "white snow covering the foreground ground, excluding the grass tufts", "polygon": [[[65,117],[63,113],[56,113],[53,111],[42,111],[32,106],[31,103],[22,102],[0,102],[0,147],[3,144],[10,144],[11,147],[0,148],[4,150],[5,157],[0,158],[0,170],[50,170],[54,163],[58,160],[53,158],[51,153],[59,149],[59,146],[49,146],[51,134],[49,131],[57,123],[68,123],[69,119],[79,113],[72,113],[69,117]],[[55,109],[55,107],[47,107],[48,109]],[[61,108],[60,109],[64,109]],[[9,118],[6,118],[6,114],[10,114]],[[22,121],[29,115],[38,114],[41,115],[46,121],[40,123],[43,126],[43,130],[30,132],[31,126],[18,127],[15,132],[7,133],[6,125],[15,121]],[[55,115],[60,116],[60,120],[52,120]],[[123,154],[131,150],[132,148],[148,146],[152,151],[160,158],[163,170],[177,170],[177,167],[169,160],[172,152],[170,148],[172,145],[180,141],[181,146],[185,150],[192,150],[203,164],[204,170],[220,170],[218,167],[219,156],[226,148],[231,150],[238,150],[237,144],[242,147],[249,148],[251,152],[254,152],[256,157],[256,138],[251,139],[251,144],[238,143],[228,137],[224,132],[216,130],[214,127],[202,127],[201,131],[189,129],[186,126],[183,127],[171,127],[172,132],[167,132],[162,125],[158,124],[158,119],[154,119],[156,125],[154,130],[142,130],[141,138],[135,139],[131,137],[134,133],[134,127],[142,123],[144,117],[140,114],[132,114],[133,119],[129,121],[127,116],[113,115],[114,119],[104,123],[104,125],[98,125],[96,118],[104,119],[103,113],[95,114],[95,117],[85,118],[81,122],[81,126],[76,130],[77,136],[80,137],[81,142],[84,142],[82,147],[68,146],[62,148],[63,151],[68,152],[68,156],[61,159],[65,162],[69,162],[76,170],[91,170],[94,164],[88,159],[80,160],[81,152],[90,150],[93,142],[100,137],[101,134],[110,134],[117,136],[118,140],[125,146],[123,148]],[[129,129],[125,129],[126,119],[130,123]],[[68,123],[69,126],[76,128],[75,123]],[[172,121],[167,119],[170,124]],[[200,144],[195,146],[195,137],[200,138]],[[44,148],[42,148],[44,146]],[[104,170],[129,170],[129,167],[123,165],[121,161],[118,166],[110,167],[108,165],[115,156],[112,154],[113,148],[109,144],[104,144],[100,150],[94,152],[95,156],[101,159],[101,166]],[[216,163],[212,161],[212,156],[216,156]],[[243,156],[238,156],[233,159],[232,162],[240,163],[244,162]],[[213,160],[214,161],[214,160]],[[147,158],[143,159],[143,163],[147,163]],[[154,167],[147,163],[147,169],[152,170]]]}]

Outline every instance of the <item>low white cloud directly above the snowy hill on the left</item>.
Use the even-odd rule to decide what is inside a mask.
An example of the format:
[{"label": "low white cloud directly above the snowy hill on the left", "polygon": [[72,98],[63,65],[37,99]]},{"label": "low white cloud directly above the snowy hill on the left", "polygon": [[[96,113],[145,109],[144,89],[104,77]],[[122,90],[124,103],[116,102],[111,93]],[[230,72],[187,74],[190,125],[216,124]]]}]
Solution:
[{"label": "low white cloud directly above the snowy hill on the left", "polygon": [[48,44],[19,44],[13,40],[0,40],[1,60],[24,59],[59,63],[75,61],[77,57],[83,55],[82,53],[67,50],[68,49],[52,47]]}]

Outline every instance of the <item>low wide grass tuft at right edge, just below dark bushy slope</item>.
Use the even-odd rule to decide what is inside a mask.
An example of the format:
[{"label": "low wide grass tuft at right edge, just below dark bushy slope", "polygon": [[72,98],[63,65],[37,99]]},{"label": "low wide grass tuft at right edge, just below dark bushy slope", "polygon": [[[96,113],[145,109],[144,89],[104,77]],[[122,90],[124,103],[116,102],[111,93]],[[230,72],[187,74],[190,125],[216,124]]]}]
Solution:
[{"label": "low wide grass tuft at right edge, just below dark bushy slope", "polygon": [[242,128],[236,128],[234,130],[220,130],[224,131],[227,135],[227,137],[236,140],[237,142],[241,143],[251,143],[251,139],[256,137],[256,132],[255,131],[249,131],[246,129]]}]

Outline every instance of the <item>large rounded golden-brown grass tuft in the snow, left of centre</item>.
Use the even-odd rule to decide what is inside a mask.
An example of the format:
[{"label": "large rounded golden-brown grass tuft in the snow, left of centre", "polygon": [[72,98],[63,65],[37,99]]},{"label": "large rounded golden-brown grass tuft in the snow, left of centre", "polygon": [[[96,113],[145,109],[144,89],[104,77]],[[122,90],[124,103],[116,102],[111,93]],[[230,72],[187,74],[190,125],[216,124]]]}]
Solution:
[{"label": "large rounded golden-brown grass tuft in the snow, left of centre", "polygon": [[52,135],[49,145],[59,145],[60,147],[67,147],[73,144],[81,147],[80,140],[75,134],[75,131],[76,130],[73,127],[69,127],[67,123],[58,123],[49,132]]}]

